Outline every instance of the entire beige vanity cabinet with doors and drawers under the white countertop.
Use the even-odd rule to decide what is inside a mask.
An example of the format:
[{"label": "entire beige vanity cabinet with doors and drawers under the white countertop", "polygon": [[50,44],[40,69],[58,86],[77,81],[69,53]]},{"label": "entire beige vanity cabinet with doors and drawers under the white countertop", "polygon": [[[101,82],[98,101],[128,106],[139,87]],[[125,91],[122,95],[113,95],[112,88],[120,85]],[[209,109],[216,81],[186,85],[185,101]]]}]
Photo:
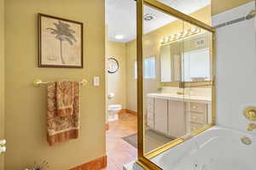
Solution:
[{"label": "entire beige vanity cabinet with doors and drawers under the white countertop", "polygon": [[208,123],[207,103],[172,99],[147,99],[147,125],[155,132],[179,138]]}]

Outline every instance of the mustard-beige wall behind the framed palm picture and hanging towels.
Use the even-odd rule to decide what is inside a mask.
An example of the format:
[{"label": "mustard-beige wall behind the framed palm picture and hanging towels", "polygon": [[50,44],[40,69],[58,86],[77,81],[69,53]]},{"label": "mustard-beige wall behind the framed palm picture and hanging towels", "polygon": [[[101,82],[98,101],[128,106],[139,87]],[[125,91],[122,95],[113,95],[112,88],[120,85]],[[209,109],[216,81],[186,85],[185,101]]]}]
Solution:
[{"label": "mustard-beige wall behind the framed palm picture and hanging towels", "polygon": [[[5,169],[24,169],[33,161],[49,161],[63,170],[106,155],[105,151],[105,23],[104,1],[5,1],[6,138]],[[2,12],[2,10],[1,10]],[[37,13],[84,23],[84,69],[38,68]],[[91,17],[94,14],[95,17]],[[99,76],[100,87],[92,86]],[[32,82],[86,78],[81,88],[79,139],[49,147],[46,142],[46,91]]]}]

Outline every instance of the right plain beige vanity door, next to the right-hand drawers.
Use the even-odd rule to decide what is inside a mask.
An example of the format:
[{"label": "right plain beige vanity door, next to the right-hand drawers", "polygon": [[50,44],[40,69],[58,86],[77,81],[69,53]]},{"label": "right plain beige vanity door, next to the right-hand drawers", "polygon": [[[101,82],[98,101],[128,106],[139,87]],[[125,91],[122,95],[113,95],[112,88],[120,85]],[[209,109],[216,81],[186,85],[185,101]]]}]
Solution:
[{"label": "right plain beige vanity door, next to the right-hand drawers", "polygon": [[168,135],[179,138],[186,133],[186,116],[183,101],[168,101]]}]

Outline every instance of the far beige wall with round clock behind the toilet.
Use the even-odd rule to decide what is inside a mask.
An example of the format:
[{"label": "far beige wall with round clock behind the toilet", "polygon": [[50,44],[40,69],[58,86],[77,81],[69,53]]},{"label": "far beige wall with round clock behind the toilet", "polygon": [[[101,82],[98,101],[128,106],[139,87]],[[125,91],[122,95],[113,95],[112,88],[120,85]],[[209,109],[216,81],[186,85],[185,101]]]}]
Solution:
[{"label": "far beige wall with round clock behind the toilet", "polygon": [[109,105],[122,105],[126,109],[125,98],[125,43],[108,42],[107,58],[117,59],[119,70],[113,74],[108,73],[108,94],[114,93],[113,99],[108,99]]}]

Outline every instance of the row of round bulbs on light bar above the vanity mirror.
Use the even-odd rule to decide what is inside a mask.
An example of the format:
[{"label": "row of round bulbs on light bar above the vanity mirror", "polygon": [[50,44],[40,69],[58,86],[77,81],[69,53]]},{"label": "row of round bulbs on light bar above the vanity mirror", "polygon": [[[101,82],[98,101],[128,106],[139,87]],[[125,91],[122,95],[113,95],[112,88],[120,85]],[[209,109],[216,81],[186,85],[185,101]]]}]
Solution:
[{"label": "row of round bulbs on light bar above the vanity mirror", "polygon": [[177,34],[173,34],[172,36],[167,36],[167,37],[164,37],[160,40],[160,43],[162,45],[166,44],[166,43],[170,43],[170,42],[174,42],[174,41],[177,41],[179,39],[182,39],[184,37],[189,37],[189,36],[192,36],[192,35],[195,35],[195,34],[198,34],[201,32],[201,28],[199,27],[192,27],[186,31],[182,31],[182,32],[179,32]]}]

